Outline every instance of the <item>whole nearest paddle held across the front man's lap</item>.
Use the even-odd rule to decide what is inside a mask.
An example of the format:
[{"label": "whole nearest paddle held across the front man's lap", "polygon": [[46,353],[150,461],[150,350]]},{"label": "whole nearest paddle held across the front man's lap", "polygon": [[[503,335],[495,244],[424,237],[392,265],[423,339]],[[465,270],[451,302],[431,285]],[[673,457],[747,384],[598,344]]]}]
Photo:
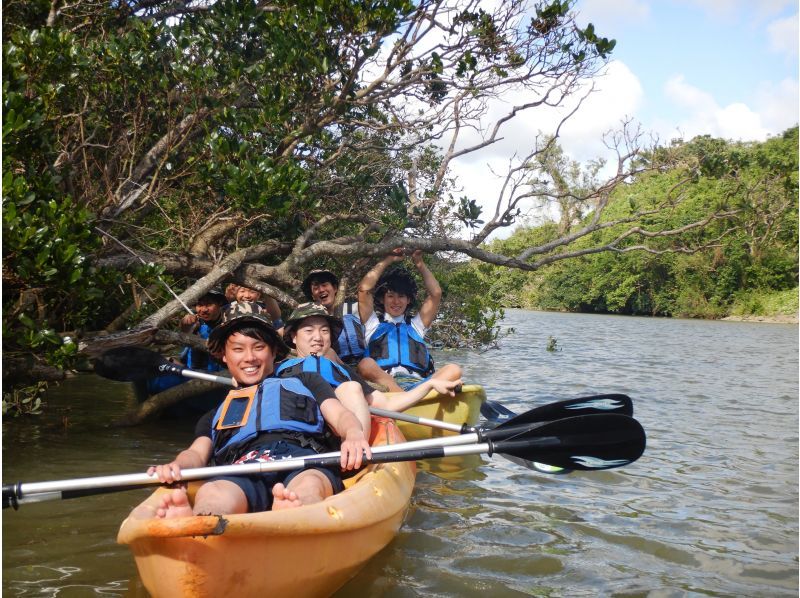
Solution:
[{"label": "whole nearest paddle held across the front man's lap", "polygon": [[[491,433],[492,431],[488,431]],[[375,447],[368,463],[417,461],[458,455],[494,453],[526,461],[540,461],[555,467],[585,471],[611,469],[636,461],[644,452],[646,439],[642,426],[626,415],[584,415],[557,421],[507,429],[504,439],[457,446],[408,448],[406,445]],[[410,443],[408,443],[410,444]],[[299,459],[248,463],[219,467],[185,469],[184,481],[218,475],[250,475],[267,471],[287,471],[309,467],[336,467],[340,453],[327,453]],[[158,478],[144,473],[102,476],[3,485],[3,508],[18,508],[25,502],[67,499],[117,490],[160,485]]]}]

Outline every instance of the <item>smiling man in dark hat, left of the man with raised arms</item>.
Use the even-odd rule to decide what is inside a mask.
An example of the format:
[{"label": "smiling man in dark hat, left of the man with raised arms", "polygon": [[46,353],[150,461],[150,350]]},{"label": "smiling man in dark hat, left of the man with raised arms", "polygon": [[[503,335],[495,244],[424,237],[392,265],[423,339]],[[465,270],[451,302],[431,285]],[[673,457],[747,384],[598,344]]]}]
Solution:
[{"label": "smiling man in dark hat, left of the man with raised arms", "polygon": [[402,391],[395,379],[382,370],[374,359],[365,357],[364,326],[358,316],[358,303],[336,303],[339,278],[330,270],[312,270],[303,280],[301,289],[306,299],[324,307],[329,315],[341,319],[335,355],[331,352],[327,357],[357,367],[361,376],[389,391]]}]

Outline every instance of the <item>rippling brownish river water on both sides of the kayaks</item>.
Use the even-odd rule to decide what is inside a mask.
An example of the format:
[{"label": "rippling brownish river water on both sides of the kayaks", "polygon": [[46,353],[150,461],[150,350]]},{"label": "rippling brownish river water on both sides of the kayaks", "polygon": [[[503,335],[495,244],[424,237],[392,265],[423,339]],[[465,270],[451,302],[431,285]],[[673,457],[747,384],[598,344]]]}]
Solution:
[{"label": "rippling brownish river water on both sides of the kayaks", "polygon": [[[522,310],[504,325],[499,349],[437,362],[516,411],[628,394],[644,456],[561,476],[499,456],[421,463],[399,537],[338,598],[798,595],[796,325]],[[5,483],[143,471],[191,438],[189,422],[104,427],[133,397],[95,376],[48,403],[3,422]],[[115,537],[147,492],[3,511],[3,595],[146,596]]]}]

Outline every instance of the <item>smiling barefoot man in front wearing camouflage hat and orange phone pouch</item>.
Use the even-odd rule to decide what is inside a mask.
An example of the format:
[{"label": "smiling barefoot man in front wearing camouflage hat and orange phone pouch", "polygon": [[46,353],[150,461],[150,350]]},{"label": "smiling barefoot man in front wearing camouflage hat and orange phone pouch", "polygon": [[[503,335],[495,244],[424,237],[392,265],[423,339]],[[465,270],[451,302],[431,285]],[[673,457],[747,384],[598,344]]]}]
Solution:
[{"label": "smiling barefoot man in front wearing camouflage hat and orange phone pouch", "polygon": [[[165,465],[151,466],[148,475],[162,483],[174,483],[181,479],[181,469],[209,462],[247,463],[324,452],[328,449],[324,444],[326,425],[342,439],[342,470],[358,469],[364,454],[371,457],[361,424],[336,399],[324,378],[305,372],[290,378],[272,375],[275,359],[283,358],[288,347],[261,306],[230,304],[209,337],[208,347],[221,355],[238,388],[198,421],[189,448]],[[319,502],[342,489],[339,468],[227,475],[200,486],[193,505],[184,488],[175,488],[155,513],[134,516],[168,518],[293,508]]]}]

